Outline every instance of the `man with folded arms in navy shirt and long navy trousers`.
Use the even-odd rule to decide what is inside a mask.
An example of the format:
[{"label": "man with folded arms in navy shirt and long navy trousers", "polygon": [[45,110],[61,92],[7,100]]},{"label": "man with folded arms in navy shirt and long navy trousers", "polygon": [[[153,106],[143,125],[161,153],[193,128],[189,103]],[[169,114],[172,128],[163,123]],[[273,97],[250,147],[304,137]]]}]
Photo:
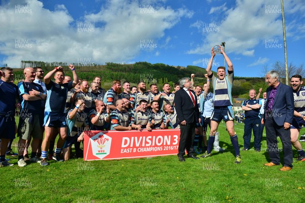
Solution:
[{"label": "man with folded arms in navy shirt and long navy trousers", "polygon": [[243,133],[243,149],[242,151],[247,151],[250,148],[251,141],[251,131],[253,129],[254,134],[254,149],[260,152],[261,148],[261,138],[260,138],[260,117],[259,110],[261,108],[261,101],[255,99],[256,91],[251,89],[249,91],[250,99],[244,100],[241,109],[245,111],[245,128]]}]

